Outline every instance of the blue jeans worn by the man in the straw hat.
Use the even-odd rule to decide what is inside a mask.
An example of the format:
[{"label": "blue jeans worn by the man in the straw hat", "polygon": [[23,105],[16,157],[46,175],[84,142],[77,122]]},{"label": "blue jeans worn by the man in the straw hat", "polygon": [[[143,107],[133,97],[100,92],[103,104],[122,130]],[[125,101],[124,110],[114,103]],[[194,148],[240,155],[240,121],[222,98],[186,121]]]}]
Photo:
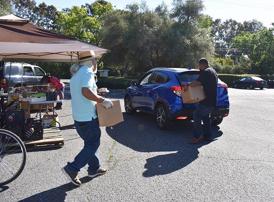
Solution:
[{"label": "blue jeans worn by the man in the straw hat", "polygon": [[95,174],[101,165],[97,149],[100,145],[101,130],[98,118],[92,121],[79,122],[74,120],[76,131],[84,140],[84,147],[74,158],[73,162],[68,162],[65,168],[73,173],[78,173],[81,168],[88,164],[88,174]]}]

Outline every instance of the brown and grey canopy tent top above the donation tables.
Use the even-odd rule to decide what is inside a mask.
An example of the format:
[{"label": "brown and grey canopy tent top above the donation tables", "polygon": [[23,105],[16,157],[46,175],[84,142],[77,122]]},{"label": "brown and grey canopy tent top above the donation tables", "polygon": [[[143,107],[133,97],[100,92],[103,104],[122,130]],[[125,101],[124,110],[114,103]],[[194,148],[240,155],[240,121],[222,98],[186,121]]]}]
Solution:
[{"label": "brown and grey canopy tent top above the donation tables", "polygon": [[49,31],[13,14],[0,17],[0,61],[71,62],[78,52],[110,50]]}]

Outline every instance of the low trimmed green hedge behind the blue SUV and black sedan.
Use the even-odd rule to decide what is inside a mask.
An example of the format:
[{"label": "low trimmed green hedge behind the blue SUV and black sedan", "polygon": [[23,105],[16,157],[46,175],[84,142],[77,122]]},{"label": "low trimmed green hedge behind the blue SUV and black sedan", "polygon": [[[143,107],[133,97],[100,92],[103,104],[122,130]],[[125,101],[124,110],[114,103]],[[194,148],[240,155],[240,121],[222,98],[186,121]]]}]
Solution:
[{"label": "low trimmed green hedge behind the blue SUV and black sedan", "polygon": [[[236,75],[236,74],[218,74],[218,77],[220,80],[225,82],[228,87],[233,87],[233,81],[237,81],[242,77],[247,76],[255,76],[260,77],[263,80],[268,81],[269,79],[273,80],[273,76],[269,75],[255,75],[255,74],[242,74],[242,75]],[[126,89],[130,87],[130,82],[132,80],[138,80],[140,77],[108,77],[108,78],[98,78],[97,86],[98,88],[109,88],[109,89]]]}]

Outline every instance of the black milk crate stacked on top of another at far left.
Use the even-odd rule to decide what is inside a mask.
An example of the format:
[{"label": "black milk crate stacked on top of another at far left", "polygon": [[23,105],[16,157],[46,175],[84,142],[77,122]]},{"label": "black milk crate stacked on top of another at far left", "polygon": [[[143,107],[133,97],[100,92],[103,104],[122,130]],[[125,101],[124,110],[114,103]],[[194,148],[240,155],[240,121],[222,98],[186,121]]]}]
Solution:
[{"label": "black milk crate stacked on top of another at far left", "polygon": [[8,109],[6,112],[6,125],[17,125],[25,123],[24,109]]}]

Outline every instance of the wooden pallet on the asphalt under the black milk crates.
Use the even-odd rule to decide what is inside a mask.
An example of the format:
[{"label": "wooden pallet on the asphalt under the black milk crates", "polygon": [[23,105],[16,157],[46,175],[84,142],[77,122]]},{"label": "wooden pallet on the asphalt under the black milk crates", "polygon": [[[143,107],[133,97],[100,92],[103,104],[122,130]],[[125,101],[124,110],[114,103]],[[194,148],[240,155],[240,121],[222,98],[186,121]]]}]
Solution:
[{"label": "wooden pallet on the asphalt under the black milk crates", "polygon": [[60,147],[64,145],[64,138],[59,128],[44,129],[42,140],[23,141],[26,150]]}]

